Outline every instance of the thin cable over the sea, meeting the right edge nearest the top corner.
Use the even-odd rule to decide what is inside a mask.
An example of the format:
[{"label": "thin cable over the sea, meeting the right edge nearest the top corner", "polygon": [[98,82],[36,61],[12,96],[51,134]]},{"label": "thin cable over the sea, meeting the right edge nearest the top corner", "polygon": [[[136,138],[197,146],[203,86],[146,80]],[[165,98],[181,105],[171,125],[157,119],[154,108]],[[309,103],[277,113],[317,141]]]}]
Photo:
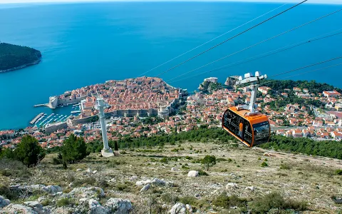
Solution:
[{"label": "thin cable over the sea, meeting the right edge nearest the top corner", "polygon": [[212,63],[216,63],[217,61],[221,61],[221,60],[224,59],[224,58],[228,58],[228,57],[230,57],[230,56],[234,56],[235,54],[239,54],[239,53],[242,52],[242,51],[246,51],[246,50],[248,50],[248,49],[251,49],[251,48],[254,47],[254,46],[258,46],[259,44],[263,44],[263,43],[266,42],[266,41],[269,41],[269,40],[271,40],[271,39],[275,39],[276,37],[282,36],[282,35],[284,35],[284,34],[287,34],[287,33],[291,32],[291,31],[294,31],[294,30],[296,30],[296,29],[299,29],[299,28],[301,28],[301,27],[303,27],[303,26],[306,26],[306,25],[308,25],[308,24],[311,24],[311,23],[313,23],[313,22],[315,22],[315,21],[318,21],[318,20],[320,20],[320,19],[326,18],[327,16],[331,16],[331,15],[333,15],[333,14],[336,14],[336,13],[338,13],[339,11],[342,11],[342,9],[338,9],[337,11],[333,11],[333,12],[330,13],[330,14],[326,14],[325,16],[321,16],[321,17],[319,17],[318,19],[314,19],[314,20],[309,21],[309,22],[307,22],[307,23],[305,23],[305,24],[301,24],[300,26],[296,26],[296,27],[293,28],[293,29],[289,29],[288,31],[284,31],[284,32],[281,33],[281,34],[278,34],[278,35],[276,35],[276,36],[272,36],[272,37],[270,37],[269,39],[265,39],[264,41],[260,41],[260,42],[258,42],[257,44],[253,44],[252,46],[248,46],[247,48],[244,48],[244,49],[242,49],[242,50],[236,51],[236,52],[234,52],[234,53],[232,53],[232,54],[229,54],[229,55],[227,55],[227,56],[224,56],[224,57],[219,58],[219,59],[217,59],[217,60],[214,60],[214,61],[212,61],[212,62],[209,62],[209,63],[205,64],[204,66],[199,66],[199,67],[197,67],[197,68],[195,68],[195,69],[193,69],[193,70],[191,70],[191,71],[187,71],[187,72],[185,72],[185,73],[182,73],[182,74],[180,74],[179,76],[176,76],[176,77],[174,77],[174,78],[170,78],[170,79],[167,80],[167,81],[172,81],[173,79],[179,78],[180,76],[185,76],[187,73],[192,73],[193,71],[197,71],[197,70],[200,69],[200,68],[204,68],[204,67],[206,67],[206,66],[209,66],[209,65],[211,65]]}]

